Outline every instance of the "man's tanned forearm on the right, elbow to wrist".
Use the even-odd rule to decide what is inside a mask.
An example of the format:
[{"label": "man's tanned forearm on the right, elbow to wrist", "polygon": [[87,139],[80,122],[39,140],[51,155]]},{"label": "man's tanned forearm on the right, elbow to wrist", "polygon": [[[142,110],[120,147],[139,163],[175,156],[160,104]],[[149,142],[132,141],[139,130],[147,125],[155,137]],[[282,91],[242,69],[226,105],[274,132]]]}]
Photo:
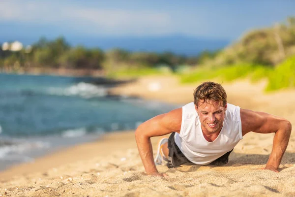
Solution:
[{"label": "man's tanned forearm on the right, elbow to wrist", "polygon": [[279,167],[279,165],[281,164],[283,155],[288,146],[290,134],[291,134],[290,124],[287,124],[286,127],[276,131],[273,138],[272,151],[266,165],[273,166],[276,169]]}]

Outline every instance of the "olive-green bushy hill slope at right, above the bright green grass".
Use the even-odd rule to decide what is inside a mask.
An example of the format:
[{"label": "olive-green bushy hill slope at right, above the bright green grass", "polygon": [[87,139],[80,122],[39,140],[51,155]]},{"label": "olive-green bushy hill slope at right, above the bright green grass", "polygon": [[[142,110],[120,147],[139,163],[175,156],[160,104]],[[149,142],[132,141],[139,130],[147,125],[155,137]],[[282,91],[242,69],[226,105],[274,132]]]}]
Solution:
[{"label": "olive-green bushy hill slope at right, above the bright green grass", "polygon": [[225,66],[233,64],[259,64],[275,66],[295,55],[295,17],[286,23],[253,30],[240,40],[220,51],[206,64]]}]

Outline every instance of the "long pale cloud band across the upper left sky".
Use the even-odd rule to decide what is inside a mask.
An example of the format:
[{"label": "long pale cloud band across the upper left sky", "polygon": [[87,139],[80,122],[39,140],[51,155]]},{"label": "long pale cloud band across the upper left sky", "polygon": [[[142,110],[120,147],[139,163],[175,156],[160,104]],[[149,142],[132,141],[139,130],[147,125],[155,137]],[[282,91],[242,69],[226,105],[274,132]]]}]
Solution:
[{"label": "long pale cloud band across the upper left sky", "polygon": [[79,33],[164,34],[172,31],[167,13],[152,10],[89,8],[73,3],[47,1],[2,1],[0,22],[55,25]]}]

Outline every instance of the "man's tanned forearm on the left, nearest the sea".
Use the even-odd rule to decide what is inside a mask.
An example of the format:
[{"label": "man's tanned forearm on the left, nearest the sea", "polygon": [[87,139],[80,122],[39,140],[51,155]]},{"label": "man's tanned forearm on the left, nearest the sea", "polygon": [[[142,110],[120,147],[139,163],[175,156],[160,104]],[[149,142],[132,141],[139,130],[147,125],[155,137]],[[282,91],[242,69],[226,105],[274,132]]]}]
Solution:
[{"label": "man's tanned forearm on the left, nearest the sea", "polygon": [[142,133],[140,133],[140,131],[136,131],[135,139],[139,155],[144,164],[147,174],[155,171],[157,172],[158,170],[153,160],[153,152],[150,138],[144,136]]}]

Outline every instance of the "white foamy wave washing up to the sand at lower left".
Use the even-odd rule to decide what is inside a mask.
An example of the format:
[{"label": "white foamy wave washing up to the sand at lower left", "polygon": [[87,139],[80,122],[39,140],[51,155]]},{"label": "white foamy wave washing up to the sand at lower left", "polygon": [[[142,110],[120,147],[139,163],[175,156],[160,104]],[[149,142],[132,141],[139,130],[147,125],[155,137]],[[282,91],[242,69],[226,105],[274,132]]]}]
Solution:
[{"label": "white foamy wave washing up to the sand at lower left", "polygon": [[[91,141],[100,137],[104,132],[101,128],[79,128],[61,131],[53,135],[30,136],[22,139],[5,136],[0,138],[0,163],[1,161],[9,163],[31,162],[35,157],[57,150],[57,148]],[[64,138],[71,139],[65,140]]]}]

